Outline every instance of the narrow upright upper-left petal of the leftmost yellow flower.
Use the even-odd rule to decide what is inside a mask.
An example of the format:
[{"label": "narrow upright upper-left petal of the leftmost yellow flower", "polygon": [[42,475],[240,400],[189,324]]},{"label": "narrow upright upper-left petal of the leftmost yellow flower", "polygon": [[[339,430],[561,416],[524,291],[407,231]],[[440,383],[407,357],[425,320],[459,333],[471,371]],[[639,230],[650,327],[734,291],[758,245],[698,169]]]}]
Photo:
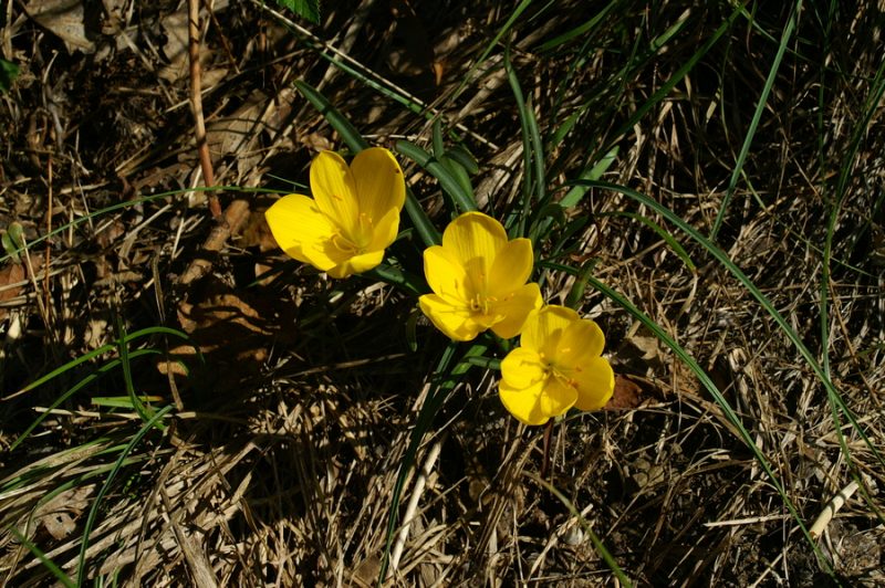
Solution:
[{"label": "narrow upright upper-left petal of the leftmost yellow flower", "polygon": [[[348,240],[357,234],[360,204],[347,164],[334,151],[322,151],[311,162],[311,191],[317,208]],[[356,243],[363,245],[365,243]]]}]

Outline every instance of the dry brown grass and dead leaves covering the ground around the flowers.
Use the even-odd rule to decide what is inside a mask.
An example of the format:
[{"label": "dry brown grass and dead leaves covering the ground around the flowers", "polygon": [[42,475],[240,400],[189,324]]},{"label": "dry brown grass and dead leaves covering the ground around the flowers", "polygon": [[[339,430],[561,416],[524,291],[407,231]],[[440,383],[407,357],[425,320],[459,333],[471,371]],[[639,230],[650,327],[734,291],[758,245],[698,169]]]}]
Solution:
[{"label": "dry brown grass and dead leaves covering the ground around the flowers", "polygon": [[[157,351],[131,358],[136,391],[175,408],[165,432],[147,432],[107,486],[84,581],[374,584],[393,487],[446,342],[418,322],[413,351],[414,298],[363,277],[330,281],[275,250],[262,217],[275,198],[268,190],[305,181],[317,149],[344,148],[292,83],[319,87],[378,145],[430,139],[428,118],[394,94],[431,105],[427,112],[442,114],[447,128],[457,124],[479,161],[481,206],[501,214],[521,198],[522,138],[503,48],[490,42],[514,7],[346,0],[326,2],[323,25],[306,29],[288,27],[272,3],[216,1],[211,19],[204,9],[215,182],[262,189],[220,192],[233,234],[212,243],[206,192],[191,190],[202,175],[188,106],[185,3],[84,2],[85,11],[65,13],[65,29],[51,10],[40,12],[61,4],[4,3],[0,33],[0,56],[21,66],[0,96],[0,227],[21,223],[28,242],[55,231],[29,248],[23,264],[7,258],[0,266],[0,578],[53,581],[22,536],[75,577],[87,513],[143,424],[131,408],[96,403],[126,395],[123,371],[101,375],[8,449],[117,353],[19,390],[113,344],[123,324],[128,333],[180,329],[205,363],[174,336],[131,345],[131,354]],[[709,234],[791,7],[751,2],[701,54],[732,15],[728,2],[614,2],[587,32],[555,43],[608,4],[535,4],[503,41],[546,138],[549,188],[564,193],[564,182],[617,147],[604,180],[648,195]],[[860,427],[844,414],[834,421],[821,379],[747,286],[654,211],[593,188],[570,212],[586,222],[548,243],[546,254],[563,244],[563,263],[594,263],[594,277],[697,359],[806,526],[843,487],[861,483],[819,539],[835,570],[827,576],[696,375],[589,288],[582,312],[606,333],[621,407],[556,424],[544,475],[639,585],[885,582],[885,119],[875,105],[883,8],[867,0],[829,15],[830,8],[805,2],[716,242],[814,357],[829,358]],[[323,52],[345,55],[384,90]],[[688,74],[656,97],[696,55]],[[572,115],[573,129],[555,137]],[[438,183],[400,161],[441,229]],[[145,199],[165,191],[174,193]],[[660,225],[685,254],[623,212]],[[408,239],[397,254],[419,267]],[[210,267],[205,276],[189,273],[197,260]],[[561,303],[573,279],[542,274],[549,302]],[[821,339],[822,280],[829,340]],[[538,482],[543,433],[507,414],[494,371],[472,368],[445,399],[406,481],[400,521],[417,502],[391,584],[611,585],[612,570],[577,518]]]}]

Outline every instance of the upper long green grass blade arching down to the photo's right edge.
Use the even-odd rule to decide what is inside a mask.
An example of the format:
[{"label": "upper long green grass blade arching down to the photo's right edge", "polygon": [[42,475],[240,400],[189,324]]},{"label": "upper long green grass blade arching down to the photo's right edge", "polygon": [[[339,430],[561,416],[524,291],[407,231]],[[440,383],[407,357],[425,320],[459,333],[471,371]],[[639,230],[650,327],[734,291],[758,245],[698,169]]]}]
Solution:
[{"label": "upper long green grass blade arching down to the photo's right edge", "polygon": [[731,259],[729,259],[728,254],[726,254],[725,251],[719,249],[710,240],[700,234],[699,231],[697,231],[694,227],[691,227],[683,219],[680,219],[670,209],[668,209],[664,204],[660,204],[659,202],[656,202],[655,200],[648,198],[645,195],[642,195],[624,186],[617,186],[614,183],[607,183],[602,181],[575,180],[575,183],[582,183],[590,187],[618,192],[636,200],[642,204],[645,204],[646,207],[650,208],[652,210],[654,210],[655,212],[667,219],[669,222],[674,223],[683,232],[685,232],[691,239],[697,241],[701,246],[704,246],[704,249],[706,249],[707,252],[709,252],[714,258],[716,258],[716,260],[719,263],[721,263],[722,266],[725,266],[729,271],[729,273],[731,273],[731,275],[733,275],[738,280],[738,282],[741,283],[743,287],[747,288],[747,291],[759,302],[762,308],[764,308],[766,312],[774,319],[774,322],[778,324],[781,330],[783,330],[784,335],[787,335],[787,337],[796,348],[796,350],[805,360],[805,363],[808,363],[809,367],[818,377],[818,379],[821,381],[821,384],[823,384],[824,388],[827,391],[827,395],[832,396],[832,399],[839,406],[840,411],[842,411],[845,418],[851,422],[854,430],[857,431],[857,434],[861,437],[861,439],[863,439],[864,443],[873,453],[873,455],[875,455],[878,463],[885,466],[885,460],[883,459],[882,454],[876,449],[876,447],[870,441],[870,438],[864,432],[861,424],[857,422],[857,418],[854,416],[854,413],[852,413],[851,409],[845,403],[845,400],[839,393],[839,390],[836,390],[835,385],[830,379],[830,377],[824,372],[823,368],[821,367],[821,364],[815,359],[814,355],[809,350],[808,346],[805,346],[805,344],[802,342],[799,334],[793,329],[792,326],[790,326],[790,323],[787,322],[783,315],[781,315],[778,312],[778,309],[774,308],[774,305],[771,304],[771,301],[769,301],[768,297],[766,297],[766,295],[762,294],[759,287],[757,287],[757,285],[753,284],[753,282],[747,276],[747,274],[745,274],[735,264],[735,262],[732,262]]}]

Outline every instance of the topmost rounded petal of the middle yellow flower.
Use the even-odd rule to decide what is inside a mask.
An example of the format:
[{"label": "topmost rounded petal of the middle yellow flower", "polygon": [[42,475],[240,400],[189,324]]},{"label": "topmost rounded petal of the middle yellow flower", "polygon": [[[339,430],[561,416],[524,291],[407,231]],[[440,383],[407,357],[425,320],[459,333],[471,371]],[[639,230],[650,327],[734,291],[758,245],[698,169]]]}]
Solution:
[{"label": "topmost rounded petal of the middle yellow flower", "polygon": [[504,228],[482,212],[465,212],[442,232],[442,246],[467,271],[473,292],[486,292],[492,262],[506,244]]}]

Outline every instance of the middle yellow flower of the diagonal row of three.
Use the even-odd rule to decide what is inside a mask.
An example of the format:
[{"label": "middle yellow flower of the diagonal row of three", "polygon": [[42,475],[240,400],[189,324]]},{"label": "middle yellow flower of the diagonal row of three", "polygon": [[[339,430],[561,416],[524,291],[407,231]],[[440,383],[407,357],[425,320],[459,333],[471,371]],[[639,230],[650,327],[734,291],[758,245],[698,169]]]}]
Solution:
[{"label": "middle yellow flower of the diagonal row of three", "polygon": [[424,250],[424,274],[434,294],[419,298],[421,311],[455,340],[470,340],[491,328],[509,339],[540,308],[541,290],[527,284],[532,243],[508,241],[501,223],[466,212],[442,233],[442,244]]}]

